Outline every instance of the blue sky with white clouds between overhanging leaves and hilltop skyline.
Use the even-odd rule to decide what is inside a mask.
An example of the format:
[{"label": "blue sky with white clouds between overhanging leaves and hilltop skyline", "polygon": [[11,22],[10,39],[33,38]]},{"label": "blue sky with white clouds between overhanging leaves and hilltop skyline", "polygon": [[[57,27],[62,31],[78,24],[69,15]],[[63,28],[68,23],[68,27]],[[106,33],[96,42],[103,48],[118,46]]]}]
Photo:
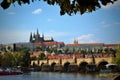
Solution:
[{"label": "blue sky with white clouds between overhanging leaves and hilltop skyline", "polygon": [[[2,2],[2,0],[0,0]],[[30,33],[44,34],[55,41],[73,43],[120,43],[120,0],[92,12],[61,16],[57,5],[41,1],[0,7],[0,44],[29,42]]]}]

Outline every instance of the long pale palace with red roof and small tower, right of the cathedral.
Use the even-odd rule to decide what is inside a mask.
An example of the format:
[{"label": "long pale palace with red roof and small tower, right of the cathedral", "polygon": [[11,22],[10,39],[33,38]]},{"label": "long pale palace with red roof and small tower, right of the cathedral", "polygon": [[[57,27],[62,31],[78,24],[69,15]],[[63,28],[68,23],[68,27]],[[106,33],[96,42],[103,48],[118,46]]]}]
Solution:
[{"label": "long pale palace with red roof and small tower, right of the cathedral", "polygon": [[63,49],[68,49],[70,51],[73,50],[84,50],[84,51],[94,51],[98,52],[99,50],[104,50],[104,49],[114,49],[116,50],[117,47],[120,46],[120,44],[104,44],[104,43],[78,43],[78,40],[75,39],[73,44],[66,44]]}]

